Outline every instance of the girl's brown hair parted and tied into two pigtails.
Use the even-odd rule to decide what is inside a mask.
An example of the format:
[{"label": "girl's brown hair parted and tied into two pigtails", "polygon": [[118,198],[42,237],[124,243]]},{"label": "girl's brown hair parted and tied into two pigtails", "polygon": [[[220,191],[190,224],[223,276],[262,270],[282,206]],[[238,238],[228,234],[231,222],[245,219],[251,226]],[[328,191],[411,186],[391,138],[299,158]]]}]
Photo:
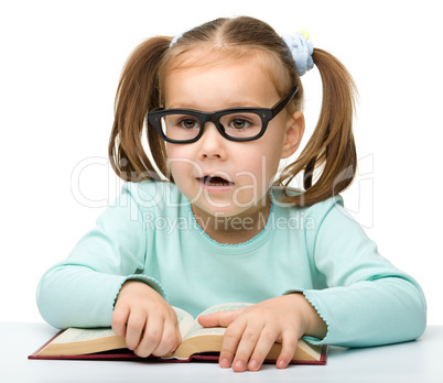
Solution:
[{"label": "girl's brown hair parted and tied into two pigtails", "polygon": [[[267,23],[248,17],[217,19],[184,33],[172,47],[171,41],[171,37],[158,36],[140,44],[128,58],[120,78],[109,157],[112,168],[125,180],[160,180],[161,175],[166,176],[165,143],[147,121],[147,111],[162,106],[164,77],[179,67],[258,57],[280,96],[299,86],[288,108],[300,110],[302,107],[303,87],[295,62],[283,40]],[[201,54],[196,54],[196,48]],[[313,205],[347,188],[357,164],[352,132],[354,81],[329,53],[314,48],[312,58],[323,83],[318,122],[299,158],[288,165],[275,182],[285,193],[282,201],[299,206]],[[143,150],[144,125],[153,163]],[[317,168],[322,171],[313,184]],[[296,196],[288,195],[290,182],[301,172],[304,172],[305,190]],[[173,182],[171,176],[169,179]]]}]

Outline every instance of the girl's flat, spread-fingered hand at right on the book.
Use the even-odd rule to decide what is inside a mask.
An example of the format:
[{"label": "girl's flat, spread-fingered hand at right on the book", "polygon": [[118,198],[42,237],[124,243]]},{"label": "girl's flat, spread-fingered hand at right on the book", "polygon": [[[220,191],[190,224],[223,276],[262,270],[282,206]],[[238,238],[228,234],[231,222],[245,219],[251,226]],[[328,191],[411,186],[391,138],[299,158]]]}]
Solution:
[{"label": "girl's flat, spread-fingered hand at right on the book", "polygon": [[268,299],[233,311],[201,316],[203,327],[227,327],[219,364],[236,372],[258,371],[274,342],[282,343],[275,362],[288,366],[299,339],[310,333],[324,337],[326,325],[302,294]]}]

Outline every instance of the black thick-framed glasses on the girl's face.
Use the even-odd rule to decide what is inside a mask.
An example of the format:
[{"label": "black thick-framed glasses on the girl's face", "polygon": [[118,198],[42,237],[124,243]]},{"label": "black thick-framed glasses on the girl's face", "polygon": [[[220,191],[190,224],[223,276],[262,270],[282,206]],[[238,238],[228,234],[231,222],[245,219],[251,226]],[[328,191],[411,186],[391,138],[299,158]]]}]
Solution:
[{"label": "black thick-framed glasses on the girl's face", "polygon": [[215,112],[192,109],[156,108],[148,112],[149,122],[161,138],[171,143],[196,142],[206,122],[213,122],[219,133],[230,141],[253,141],[261,138],[271,121],[299,91],[294,87],[272,108],[231,108]]}]

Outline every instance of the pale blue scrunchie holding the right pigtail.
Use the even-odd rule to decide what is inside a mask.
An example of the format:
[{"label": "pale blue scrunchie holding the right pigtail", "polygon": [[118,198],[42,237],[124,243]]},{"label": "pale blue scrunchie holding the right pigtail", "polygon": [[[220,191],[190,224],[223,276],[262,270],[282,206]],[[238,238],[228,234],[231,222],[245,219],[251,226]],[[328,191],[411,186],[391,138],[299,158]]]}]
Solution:
[{"label": "pale blue scrunchie holding the right pigtail", "polygon": [[309,41],[310,34],[306,31],[299,31],[294,34],[282,34],[281,39],[283,39],[291,51],[299,76],[303,76],[314,67],[314,61],[312,59],[314,47],[312,42]]}]

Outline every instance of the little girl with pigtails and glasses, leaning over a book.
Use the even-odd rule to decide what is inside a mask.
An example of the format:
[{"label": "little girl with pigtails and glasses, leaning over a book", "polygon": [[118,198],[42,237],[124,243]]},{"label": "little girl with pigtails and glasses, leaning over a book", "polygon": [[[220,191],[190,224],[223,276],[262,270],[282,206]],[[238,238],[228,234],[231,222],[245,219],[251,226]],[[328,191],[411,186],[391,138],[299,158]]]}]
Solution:
[{"label": "little girl with pigtails and glasses, leaning over a book", "polygon": [[[300,145],[300,76],[314,64],[318,123],[277,175]],[[420,337],[420,286],[378,254],[338,195],[356,171],[354,89],[345,67],[305,35],[280,37],[251,18],[142,43],[121,76],[109,143],[128,183],[42,277],[42,316],[60,328],[112,326],[148,357],[181,342],[170,305],[197,315],[250,302],[199,317],[227,328],[219,364],[235,371],[259,370],[274,341],[285,368],[303,336],[343,347]],[[299,174],[303,190],[289,187]]]}]

